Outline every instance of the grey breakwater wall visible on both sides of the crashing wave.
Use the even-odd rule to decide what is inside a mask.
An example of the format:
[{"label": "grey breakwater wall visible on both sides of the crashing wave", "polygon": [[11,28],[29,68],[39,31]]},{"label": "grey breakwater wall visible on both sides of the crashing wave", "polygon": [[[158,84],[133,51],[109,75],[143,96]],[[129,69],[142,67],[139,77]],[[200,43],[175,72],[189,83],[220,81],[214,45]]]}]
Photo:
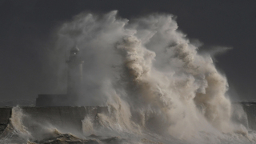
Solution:
[{"label": "grey breakwater wall visible on both sides of the crashing wave", "polygon": [[[246,114],[246,122],[242,122],[247,128],[256,130],[256,102],[237,102],[233,106],[242,106]],[[23,106],[22,124],[31,132],[38,131],[43,126],[54,126],[58,130],[69,130],[70,132],[81,132],[82,121],[90,117],[91,121],[97,125],[98,114],[108,114],[106,106],[46,106],[30,107]],[[13,107],[0,108],[0,134],[10,124],[10,120],[15,116]],[[17,114],[16,114],[17,117]]]}]

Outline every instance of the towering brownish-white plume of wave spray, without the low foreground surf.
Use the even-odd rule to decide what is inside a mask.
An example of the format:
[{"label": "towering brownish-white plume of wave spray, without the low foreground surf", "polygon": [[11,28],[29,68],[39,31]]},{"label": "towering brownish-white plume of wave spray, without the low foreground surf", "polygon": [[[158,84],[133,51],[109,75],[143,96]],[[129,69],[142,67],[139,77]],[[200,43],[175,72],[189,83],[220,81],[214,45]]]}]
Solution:
[{"label": "towering brownish-white plume of wave spray, without the low foreground surf", "polygon": [[99,115],[102,125],[177,138],[233,130],[226,78],[210,54],[198,54],[178,31],[172,15],[128,21],[117,11],[79,14],[58,30],[58,65],[74,45],[85,62],[78,104],[108,104],[113,117]]}]

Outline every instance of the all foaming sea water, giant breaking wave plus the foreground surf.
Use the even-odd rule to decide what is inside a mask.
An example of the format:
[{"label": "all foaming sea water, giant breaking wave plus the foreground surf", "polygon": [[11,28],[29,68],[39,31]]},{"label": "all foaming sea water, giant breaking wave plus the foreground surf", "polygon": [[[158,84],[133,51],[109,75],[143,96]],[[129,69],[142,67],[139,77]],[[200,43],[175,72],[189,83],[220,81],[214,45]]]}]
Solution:
[{"label": "all foaming sea water, giant breaking wave plus the foreground surf", "polygon": [[37,133],[16,107],[2,143],[256,143],[214,66],[214,54],[228,48],[199,53],[202,43],[190,42],[171,14],[130,21],[117,11],[78,14],[56,30],[47,57],[58,79],[66,78],[63,56],[74,45],[85,66],[78,105],[108,106],[110,114],[98,114],[98,126],[85,118],[80,133],[40,124]]}]

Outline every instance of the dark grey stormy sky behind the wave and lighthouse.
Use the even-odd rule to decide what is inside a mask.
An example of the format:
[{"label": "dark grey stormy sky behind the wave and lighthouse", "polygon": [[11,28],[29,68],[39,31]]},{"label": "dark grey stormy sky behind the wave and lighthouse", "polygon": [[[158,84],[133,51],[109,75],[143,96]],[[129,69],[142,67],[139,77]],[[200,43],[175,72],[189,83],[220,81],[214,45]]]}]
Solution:
[{"label": "dark grey stormy sky behind the wave and lighthouse", "polygon": [[54,30],[84,11],[118,10],[122,18],[174,14],[179,30],[204,43],[202,50],[233,47],[217,56],[216,65],[226,74],[231,94],[256,99],[255,6],[253,0],[0,0],[0,98],[34,99],[54,93],[58,79],[45,61]]}]

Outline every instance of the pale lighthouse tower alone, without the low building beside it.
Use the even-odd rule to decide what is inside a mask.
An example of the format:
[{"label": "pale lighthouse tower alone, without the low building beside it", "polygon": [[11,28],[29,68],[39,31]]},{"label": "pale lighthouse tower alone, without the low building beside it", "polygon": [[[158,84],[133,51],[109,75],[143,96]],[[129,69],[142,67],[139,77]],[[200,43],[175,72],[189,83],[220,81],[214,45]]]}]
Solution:
[{"label": "pale lighthouse tower alone, without the low building beside it", "polygon": [[68,64],[67,95],[69,95],[69,98],[77,100],[81,94],[83,63],[78,46],[71,48],[70,56],[66,63]]}]

